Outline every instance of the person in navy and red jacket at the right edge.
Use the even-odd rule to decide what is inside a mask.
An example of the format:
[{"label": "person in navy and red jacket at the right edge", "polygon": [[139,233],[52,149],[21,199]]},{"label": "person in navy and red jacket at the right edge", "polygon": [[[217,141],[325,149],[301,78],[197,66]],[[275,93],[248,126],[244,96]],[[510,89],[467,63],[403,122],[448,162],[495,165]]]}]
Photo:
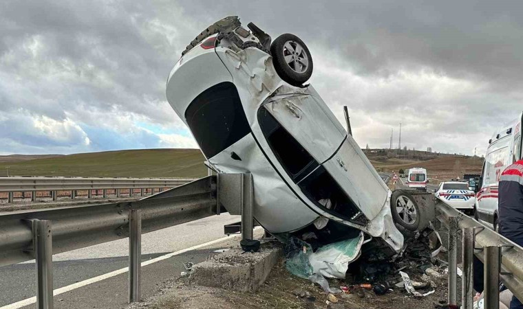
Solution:
[{"label": "person in navy and red jacket at the right edge", "polygon": [[[523,160],[500,176],[498,211],[500,234],[523,247]],[[523,309],[523,304],[514,296],[510,309]]]}]

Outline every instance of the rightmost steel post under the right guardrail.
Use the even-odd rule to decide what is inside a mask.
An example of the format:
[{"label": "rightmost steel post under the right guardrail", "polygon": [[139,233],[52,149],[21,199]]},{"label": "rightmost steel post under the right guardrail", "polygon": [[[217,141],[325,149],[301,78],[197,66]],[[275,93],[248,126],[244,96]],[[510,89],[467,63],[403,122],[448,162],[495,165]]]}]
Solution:
[{"label": "rightmost steel post under the right guardrail", "polygon": [[484,247],[484,308],[500,308],[501,248]]}]

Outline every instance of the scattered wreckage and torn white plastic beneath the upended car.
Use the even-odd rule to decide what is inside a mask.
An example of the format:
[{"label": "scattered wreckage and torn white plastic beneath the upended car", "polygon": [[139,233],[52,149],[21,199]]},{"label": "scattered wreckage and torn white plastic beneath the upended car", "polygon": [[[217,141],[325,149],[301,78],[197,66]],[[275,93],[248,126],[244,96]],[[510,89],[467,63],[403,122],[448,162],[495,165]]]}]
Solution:
[{"label": "scattered wreckage and torn white plastic beneath the upended car", "polygon": [[[317,283],[325,293],[367,298],[403,290],[406,296],[426,297],[436,292],[435,282],[447,277],[447,262],[436,257],[444,251],[440,236],[430,227],[415,233],[404,231],[405,249],[400,256],[383,253],[383,247],[365,241],[360,231],[327,244],[321,233],[324,231],[302,231],[287,239],[286,269]],[[339,284],[330,284],[329,279]],[[337,282],[339,279],[345,284]]]}]

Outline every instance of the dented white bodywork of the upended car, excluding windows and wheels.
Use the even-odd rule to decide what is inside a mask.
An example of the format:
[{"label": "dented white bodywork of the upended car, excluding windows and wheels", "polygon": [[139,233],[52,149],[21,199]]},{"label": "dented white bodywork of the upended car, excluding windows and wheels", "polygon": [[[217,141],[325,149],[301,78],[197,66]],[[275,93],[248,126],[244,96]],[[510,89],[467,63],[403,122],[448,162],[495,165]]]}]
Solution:
[{"label": "dented white bodywork of the upended car, excluding windows and wheels", "polygon": [[[268,231],[281,233],[306,227],[323,216],[383,238],[394,251],[400,252],[403,236],[392,220],[390,191],[312,86],[292,87],[281,80],[270,55],[255,47],[233,51],[217,46],[214,52],[219,58],[205,52],[175,65],[167,82],[167,100],[187,124],[185,111],[189,104],[202,91],[231,81],[232,77],[252,134],[207,159],[218,172],[253,174],[256,220]],[[203,64],[198,63],[200,57]],[[270,105],[268,111],[314,159],[320,164],[327,161],[325,168],[370,220],[366,225],[324,211],[293,182],[259,126],[257,111],[265,108],[262,107],[265,104]],[[231,152],[242,160],[232,160]],[[337,157],[343,160],[348,172],[339,165]]]}]

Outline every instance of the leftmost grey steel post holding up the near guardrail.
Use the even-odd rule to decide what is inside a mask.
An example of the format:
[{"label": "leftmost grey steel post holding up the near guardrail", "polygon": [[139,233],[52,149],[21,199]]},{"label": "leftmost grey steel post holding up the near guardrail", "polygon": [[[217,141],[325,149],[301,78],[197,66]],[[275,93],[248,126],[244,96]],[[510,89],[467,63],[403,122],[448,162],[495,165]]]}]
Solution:
[{"label": "leftmost grey steel post holding up the near guardrail", "polygon": [[50,220],[31,220],[34,258],[36,259],[36,304],[39,309],[53,308],[52,229]]}]

